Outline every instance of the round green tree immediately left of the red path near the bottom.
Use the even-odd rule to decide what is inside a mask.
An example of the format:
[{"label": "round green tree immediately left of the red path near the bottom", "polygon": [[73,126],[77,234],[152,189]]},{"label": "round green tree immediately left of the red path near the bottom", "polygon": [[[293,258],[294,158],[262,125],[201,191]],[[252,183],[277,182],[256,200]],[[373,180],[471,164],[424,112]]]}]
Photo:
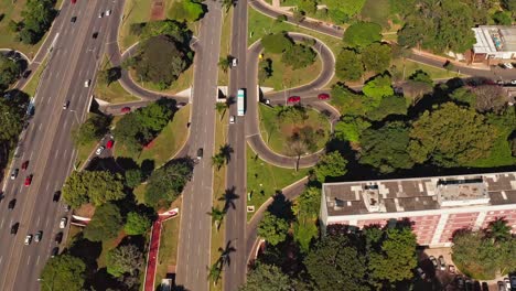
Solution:
[{"label": "round green tree immediately left of the red path near the bottom", "polygon": [[143,267],[143,254],[135,245],[118,246],[108,251],[106,267],[114,277],[136,276]]}]

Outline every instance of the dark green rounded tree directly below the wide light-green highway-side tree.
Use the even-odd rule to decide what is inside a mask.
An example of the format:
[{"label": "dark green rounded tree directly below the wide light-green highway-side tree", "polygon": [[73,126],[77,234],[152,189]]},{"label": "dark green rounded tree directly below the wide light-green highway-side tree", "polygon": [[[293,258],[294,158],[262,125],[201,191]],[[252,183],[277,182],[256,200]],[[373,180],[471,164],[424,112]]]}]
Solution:
[{"label": "dark green rounded tree directly below the wide light-green highway-side tree", "polygon": [[95,209],[92,220],[84,228],[84,237],[92,241],[109,240],[117,237],[121,225],[122,217],[118,206],[106,203]]}]

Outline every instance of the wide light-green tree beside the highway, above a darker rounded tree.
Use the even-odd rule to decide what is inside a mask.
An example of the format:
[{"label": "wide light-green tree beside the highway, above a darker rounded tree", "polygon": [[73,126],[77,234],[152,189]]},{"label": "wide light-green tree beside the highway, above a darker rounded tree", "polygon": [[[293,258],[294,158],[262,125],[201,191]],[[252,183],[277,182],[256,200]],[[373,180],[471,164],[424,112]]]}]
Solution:
[{"label": "wide light-green tree beside the highway, above a darker rounded tree", "polygon": [[72,207],[88,202],[99,206],[125,196],[121,176],[107,171],[73,172],[63,185],[63,198]]}]

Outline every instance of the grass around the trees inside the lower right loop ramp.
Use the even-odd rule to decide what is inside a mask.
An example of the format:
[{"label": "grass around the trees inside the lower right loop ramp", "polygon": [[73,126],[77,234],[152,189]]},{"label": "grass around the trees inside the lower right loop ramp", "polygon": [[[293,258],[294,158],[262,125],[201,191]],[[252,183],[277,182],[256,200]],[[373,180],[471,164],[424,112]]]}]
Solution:
[{"label": "grass around the trees inside the lower right loop ramp", "polygon": [[[268,106],[260,105],[260,132],[266,143],[272,151],[289,155],[287,148],[287,139],[298,131],[301,127],[293,125],[291,121],[280,122],[277,118],[276,111]],[[330,138],[330,122],[320,112],[308,109],[309,118],[300,126],[312,127],[314,131],[323,130],[324,137],[318,139],[318,149],[324,148],[327,139]]]}]

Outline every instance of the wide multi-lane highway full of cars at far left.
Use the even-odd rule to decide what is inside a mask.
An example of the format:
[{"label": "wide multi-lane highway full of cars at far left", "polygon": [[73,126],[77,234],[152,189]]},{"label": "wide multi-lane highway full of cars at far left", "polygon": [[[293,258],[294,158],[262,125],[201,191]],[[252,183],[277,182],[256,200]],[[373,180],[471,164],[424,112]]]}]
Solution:
[{"label": "wide multi-lane highway full of cars at far left", "polygon": [[[120,15],[121,4],[66,1],[54,22],[47,40],[58,36],[52,41],[54,46],[35,97],[35,114],[22,133],[19,158],[13,161],[13,169],[20,169],[24,161],[29,161],[29,166],[26,171],[20,170],[15,180],[7,181],[6,196],[0,203],[0,290],[40,289],[37,278],[56,246],[58,222],[67,216],[61,203],[53,203],[52,198],[74,168],[76,151],[69,132],[85,119],[105,32],[112,19]],[[100,11],[108,9],[112,11],[110,17],[98,18]],[[71,23],[72,17],[77,17],[75,23]],[[92,37],[94,32],[99,32],[96,40]],[[85,87],[86,79],[92,80],[89,87]],[[63,109],[66,100],[69,107]],[[30,186],[23,185],[26,175],[32,175]],[[17,200],[14,209],[7,211],[12,200]],[[20,224],[18,234],[10,235],[15,223]],[[43,231],[42,240],[25,246],[25,235],[39,230]]]}]

